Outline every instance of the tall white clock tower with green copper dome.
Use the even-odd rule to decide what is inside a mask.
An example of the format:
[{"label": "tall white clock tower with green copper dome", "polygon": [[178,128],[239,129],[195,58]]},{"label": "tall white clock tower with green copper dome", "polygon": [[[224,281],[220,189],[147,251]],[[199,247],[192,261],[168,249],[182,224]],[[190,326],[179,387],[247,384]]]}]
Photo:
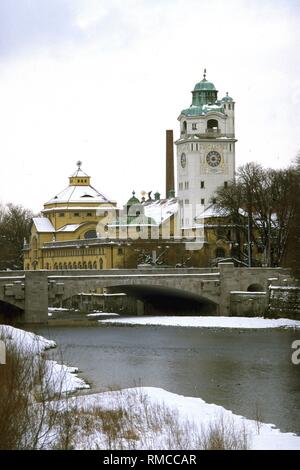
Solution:
[{"label": "tall white clock tower with green copper dome", "polygon": [[215,190],[227,186],[235,173],[234,100],[228,93],[218,99],[206,70],[192,95],[191,106],[178,118],[180,138],[175,142],[183,227],[193,226],[194,217],[212,203]]}]

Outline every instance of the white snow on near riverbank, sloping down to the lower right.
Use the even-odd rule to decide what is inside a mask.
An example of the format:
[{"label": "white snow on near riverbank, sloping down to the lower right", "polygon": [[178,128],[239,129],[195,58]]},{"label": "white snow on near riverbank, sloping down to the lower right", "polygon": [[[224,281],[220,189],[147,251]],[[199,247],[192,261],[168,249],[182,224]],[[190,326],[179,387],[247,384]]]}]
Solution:
[{"label": "white snow on near riverbank, sloping down to the lower right", "polygon": [[[142,398],[139,398],[142,397]],[[206,403],[201,398],[185,397],[168,392],[161,388],[138,387],[116,392],[104,392],[92,395],[84,395],[76,398],[76,405],[85,410],[99,406],[102,409],[116,409],[123,406],[134,406],[138,415],[142,416],[139,407],[145,403],[145,397],[149,404],[166,405],[169,409],[178,413],[179,423],[187,420],[195,426],[200,433],[207,430],[213,423],[222,421],[234,426],[237,430],[245,430],[248,436],[249,448],[253,450],[277,450],[300,449],[300,436],[293,433],[282,433],[273,424],[257,423],[254,420],[235,415],[222,406]],[[74,399],[75,400],[75,399]],[[141,423],[142,424],[142,423]],[[151,442],[151,448],[164,449],[166,441],[163,431],[148,435],[145,443]],[[89,440],[89,445],[97,447],[103,444],[103,436],[96,434]],[[124,449],[126,448],[126,443]],[[130,443],[128,443],[130,444]],[[78,441],[76,448],[84,448],[84,441]],[[137,443],[137,449],[143,447],[142,442]]]}]

